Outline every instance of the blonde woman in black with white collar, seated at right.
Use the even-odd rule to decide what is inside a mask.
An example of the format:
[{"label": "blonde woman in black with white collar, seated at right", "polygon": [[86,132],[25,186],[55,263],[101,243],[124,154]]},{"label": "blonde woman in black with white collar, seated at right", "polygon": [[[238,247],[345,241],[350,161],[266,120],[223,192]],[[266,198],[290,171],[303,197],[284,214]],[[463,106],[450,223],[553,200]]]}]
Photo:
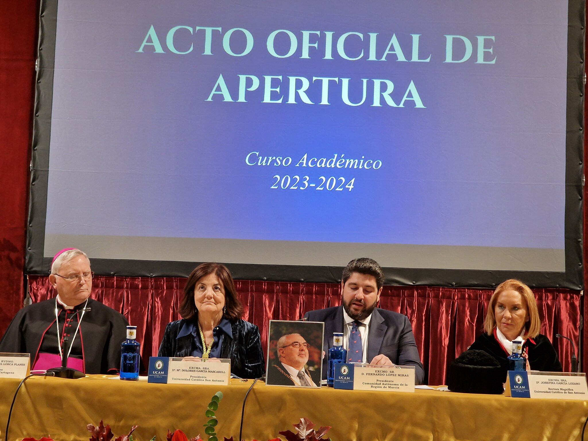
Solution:
[{"label": "blonde woman in black with white collar, seated at right", "polygon": [[537,303],[529,286],[520,280],[500,283],[490,298],[484,321],[484,333],[469,349],[479,349],[492,355],[505,373],[507,357],[512,354],[512,341],[523,340],[523,355],[527,369],[562,372],[562,364],[549,339],[540,334],[541,322]]}]

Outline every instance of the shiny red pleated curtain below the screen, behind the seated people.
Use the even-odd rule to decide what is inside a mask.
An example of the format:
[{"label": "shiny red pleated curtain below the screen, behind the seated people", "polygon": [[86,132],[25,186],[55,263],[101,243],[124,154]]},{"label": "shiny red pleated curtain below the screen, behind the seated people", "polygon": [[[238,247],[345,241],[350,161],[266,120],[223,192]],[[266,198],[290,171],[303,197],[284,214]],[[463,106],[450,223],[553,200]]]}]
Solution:
[{"label": "shiny red pleated curtain below the screen, behind the seated people", "polygon": [[[138,326],[143,367],[157,353],[165,325],[178,319],[178,305],[186,282],[183,278],[105,277],[94,279],[92,296],[123,313]],[[286,283],[236,280],[245,306],[243,319],[259,326],[267,351],[268,321],[297,320],[305,312],[340,304],[335,283]],[[34,302],[55,296],[47,276],[29,276]],[[542,319],[542,333],[553,342],[565,370],[570,370],[572,348],[555,338],[556,333],[578,342],[579,292],[564,289],[534,290]],[[385,286],[380,308],[407,315],[416,344],[432,385],[445,383],[450,363],[482,332],[485,310],[492,290]]]}]

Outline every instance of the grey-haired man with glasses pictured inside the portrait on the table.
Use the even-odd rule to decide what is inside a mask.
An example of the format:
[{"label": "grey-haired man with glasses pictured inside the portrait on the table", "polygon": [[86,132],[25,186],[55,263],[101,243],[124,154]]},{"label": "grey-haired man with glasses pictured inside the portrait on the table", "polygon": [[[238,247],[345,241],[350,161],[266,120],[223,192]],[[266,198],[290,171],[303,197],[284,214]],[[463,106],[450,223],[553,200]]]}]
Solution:
[{"label": "grey-haired man with glasses pictured inside the portrait on the table", "polygon": [[277,346],[279,363],[268,369],[268,385],[320,386],[320,373],[305,368],[310,345],[302,335],[283,335],[279,338]]}]

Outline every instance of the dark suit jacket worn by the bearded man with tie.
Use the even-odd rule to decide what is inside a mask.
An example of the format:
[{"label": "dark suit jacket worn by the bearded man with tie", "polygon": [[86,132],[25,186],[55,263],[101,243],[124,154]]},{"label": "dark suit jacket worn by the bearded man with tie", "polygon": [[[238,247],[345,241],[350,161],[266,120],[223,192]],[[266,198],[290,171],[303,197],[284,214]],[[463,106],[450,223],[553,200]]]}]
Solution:
[{"label": "dark suit jacket worn by the bearded man with tie", "polygon": [[[325,352],[333,346],[333,332],[343,332],[343,306],[309,311],[304,318],[309,322],[325,322]],[[416,384],[425,380],[423,363],[420,362],[415,336],[407,316],[386,309],[376,308],[369,323],[368,363],[376,355],[383,354],[400,366],[415,366]],[[327,376],[328,356],[323,359],[323,379]]]}]

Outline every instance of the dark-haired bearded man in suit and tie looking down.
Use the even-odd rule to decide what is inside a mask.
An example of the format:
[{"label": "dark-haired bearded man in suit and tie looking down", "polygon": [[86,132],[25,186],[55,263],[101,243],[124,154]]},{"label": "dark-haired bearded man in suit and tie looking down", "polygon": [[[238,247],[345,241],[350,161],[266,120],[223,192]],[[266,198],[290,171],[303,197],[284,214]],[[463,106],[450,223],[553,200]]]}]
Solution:
[{"label": "dark-haired bearded man in suit and tie looking down", "polygon": [[[412,325],[407,316],[376,308],[384,275],[373,259],[353,259],[343,270],[342,305],[309,311],[305,320],[325,323],[325,350],[333,346],[333,332],[343,332],[349,362],[415,366],[416,384],[425,379]],[[323,359],[327,377],[328,357]]]}]

